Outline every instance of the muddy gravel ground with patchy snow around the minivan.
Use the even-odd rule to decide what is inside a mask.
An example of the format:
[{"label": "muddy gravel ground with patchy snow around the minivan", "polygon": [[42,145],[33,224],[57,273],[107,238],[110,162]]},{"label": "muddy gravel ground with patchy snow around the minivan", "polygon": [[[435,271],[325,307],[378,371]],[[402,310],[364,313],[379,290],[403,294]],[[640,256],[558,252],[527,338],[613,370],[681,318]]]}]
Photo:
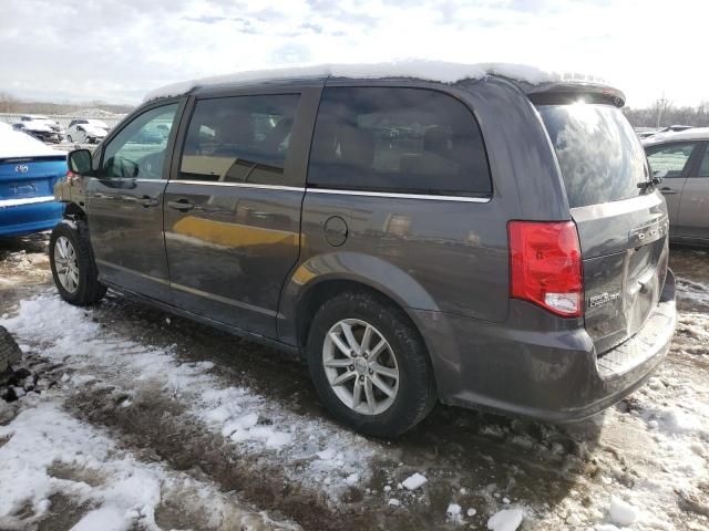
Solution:
[{"label": "muddy gravel ground with patchy snow around the minivan", "polygon": [[706,251],[672,249],[671,351],[606,413],[439,406],[382,441],[331,421],[282,354],[111,292],[63,303],[47,246],[0,240],[24,352],[0,387],[0,529],[709,529]]}]

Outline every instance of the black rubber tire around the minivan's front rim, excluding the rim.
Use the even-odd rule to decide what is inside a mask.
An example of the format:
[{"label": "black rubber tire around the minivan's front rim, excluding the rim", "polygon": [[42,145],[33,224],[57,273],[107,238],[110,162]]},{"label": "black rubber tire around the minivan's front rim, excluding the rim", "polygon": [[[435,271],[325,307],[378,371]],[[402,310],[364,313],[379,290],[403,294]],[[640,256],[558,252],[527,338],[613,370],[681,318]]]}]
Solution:
[{"label": "black rubber tire around the minivan's front rim, excluding the rim", "polygon": [[[79,282],[73,292],[68,291],[62,285],[56,273],[54,248],[56,240],[61,237],[69,240],[76,253]],[[88,306],[95,304],[105,295],[106,287],[99,282],[99,271],[93,259],[93,252],[91,251],[91,242],[89,241],[89,229],[83,220],[63,219],[54,227],[49,240],[49,261],[59,294],[70,304]]]}]

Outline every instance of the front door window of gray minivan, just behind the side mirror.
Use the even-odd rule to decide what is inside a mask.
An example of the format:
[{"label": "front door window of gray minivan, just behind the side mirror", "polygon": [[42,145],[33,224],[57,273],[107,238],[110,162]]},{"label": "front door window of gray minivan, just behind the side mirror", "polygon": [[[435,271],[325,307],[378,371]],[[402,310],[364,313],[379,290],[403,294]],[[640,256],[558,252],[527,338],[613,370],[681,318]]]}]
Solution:
[{"label": "front door window of gray minivan, just behind the side mirror", "polygon": [[162,179],[177,107],[152,108],[121,129],[105,147],[101,176]]}]

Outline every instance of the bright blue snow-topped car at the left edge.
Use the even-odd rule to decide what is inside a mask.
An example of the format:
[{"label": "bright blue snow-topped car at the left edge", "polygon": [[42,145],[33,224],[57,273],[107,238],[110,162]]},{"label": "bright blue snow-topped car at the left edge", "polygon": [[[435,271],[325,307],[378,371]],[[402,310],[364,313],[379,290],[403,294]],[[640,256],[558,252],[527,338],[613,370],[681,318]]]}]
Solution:
[{"label": "bright blue snow-topped car at the left edge", "polygon": [[54,184],[66,171],[65,153],[0,124],[0,237],[53,228],[64,208]]}]

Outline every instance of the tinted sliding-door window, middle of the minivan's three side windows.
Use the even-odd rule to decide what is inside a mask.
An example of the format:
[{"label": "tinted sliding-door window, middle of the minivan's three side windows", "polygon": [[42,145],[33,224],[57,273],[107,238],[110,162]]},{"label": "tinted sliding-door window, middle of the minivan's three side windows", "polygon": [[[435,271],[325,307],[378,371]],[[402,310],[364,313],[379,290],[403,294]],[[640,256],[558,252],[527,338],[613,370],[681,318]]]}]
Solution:
[{"label": "tinted sliding-door window, middle of the minivan's three side windows", "polygon": [[234,96],[196,103],[179,179],[287,185],[286,156],[300,96]]}]

